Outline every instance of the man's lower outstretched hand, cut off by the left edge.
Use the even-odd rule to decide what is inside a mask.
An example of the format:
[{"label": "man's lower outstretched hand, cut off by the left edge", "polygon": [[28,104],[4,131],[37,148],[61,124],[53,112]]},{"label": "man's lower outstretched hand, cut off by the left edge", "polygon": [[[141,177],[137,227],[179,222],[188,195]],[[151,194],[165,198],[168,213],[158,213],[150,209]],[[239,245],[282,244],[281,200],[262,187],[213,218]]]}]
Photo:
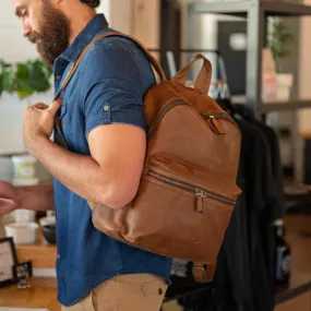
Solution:
[{"label": "man's lower outstretched hand, cut off by the left edge", "polygon": [[5,215],[20,206],[20,194],[16,187],[0,180],[0,215]]}]

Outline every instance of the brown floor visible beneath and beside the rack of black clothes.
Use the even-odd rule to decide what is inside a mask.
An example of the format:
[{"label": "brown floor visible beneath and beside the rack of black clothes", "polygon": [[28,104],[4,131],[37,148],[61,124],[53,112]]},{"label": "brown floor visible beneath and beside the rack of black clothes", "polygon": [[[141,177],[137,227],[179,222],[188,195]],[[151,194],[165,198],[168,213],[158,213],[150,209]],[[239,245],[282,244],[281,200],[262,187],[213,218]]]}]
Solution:
[{"label": "brown floor visible beneath and beside the rack of black clothes", "polygon": [[[311,280],[311,216],[288,215],[285,217],[287,240],[292,251],[291,286]],[[310,232],[310,237],[308,234]],[[302,234],[302,235],[301,235]],[[170,302],[164,311],[182,311],[177,303]],[[311,291],[279,304],[275,311],[311,311]]]}]

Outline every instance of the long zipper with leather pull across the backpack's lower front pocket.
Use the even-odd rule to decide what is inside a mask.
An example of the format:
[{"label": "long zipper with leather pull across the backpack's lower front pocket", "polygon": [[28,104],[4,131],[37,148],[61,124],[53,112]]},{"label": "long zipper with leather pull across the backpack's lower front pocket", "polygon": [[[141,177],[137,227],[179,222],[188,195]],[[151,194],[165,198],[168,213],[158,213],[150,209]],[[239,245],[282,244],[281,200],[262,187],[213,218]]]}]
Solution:
[{"label": "long zipper with leather pull across the backpack's lower front pocket", "polygon": [[210,199],[213,199],[213,200],[226,203],[226,204],[230,204],[230,205],[236,204],[236,201],[234,201],[231,199],[225,198],[220,194],[216,194],[216,193],[211,192],[211,191],[205,190],[205,189],[194,187],[194,186],[186,183],[183,181],[179,181],[179,180],[176,180],[172,178],[165,177],[165,176],[159,175],[153,170],[148,169],[146,174],[147,174],[147,176],[151,176],[152,178],[155,178],[162,182],[165,182],[165,183],[168,183],[170,186],[175,186],[175,187],[194,192],[196,195],[196,199],[198,199],[196,200],[196,211],[200,213],[203,212],[203,199],[205,199],[205,198],[210,198]]}]

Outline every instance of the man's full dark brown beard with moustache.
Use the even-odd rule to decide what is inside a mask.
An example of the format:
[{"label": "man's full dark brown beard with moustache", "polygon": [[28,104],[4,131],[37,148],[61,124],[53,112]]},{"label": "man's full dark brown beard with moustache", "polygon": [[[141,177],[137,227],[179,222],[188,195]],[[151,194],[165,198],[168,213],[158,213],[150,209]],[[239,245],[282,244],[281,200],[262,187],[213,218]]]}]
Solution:
[{"label": "man's full dark brown beard with moustache", "polygon": [[28,39],[37,45],[44,62],[51,65],[69,46],[70,24],[68,17],[46,0],[43,1],[41,16],[39,32],[32,32]]}]

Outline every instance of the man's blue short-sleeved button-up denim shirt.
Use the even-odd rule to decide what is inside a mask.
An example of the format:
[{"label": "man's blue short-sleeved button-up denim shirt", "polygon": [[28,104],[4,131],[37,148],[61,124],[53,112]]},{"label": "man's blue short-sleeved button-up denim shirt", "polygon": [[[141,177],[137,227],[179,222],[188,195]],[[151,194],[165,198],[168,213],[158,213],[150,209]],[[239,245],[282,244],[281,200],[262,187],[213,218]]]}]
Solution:
[{"label": "man's blue short-sleeved button-up denim shirt", "polygon": [[[96,15],[55,61],[55,92],[83,48],[111,32]],[[143,97],[155,77],[142,50],[121,37],[95,43],[62,92],[59,118],[69,148],[89,155],[88,133],[96,127],[124,123],[145,130]],[[61,144],[56,133],[55,141]],[[57,160],[57,159],[56,159]],[[69,307],[93,288],[120,274],[151,273],[169,280],[171,261],[116,241],[96,230],[87,202],[55,179],[58,299]]]}]

